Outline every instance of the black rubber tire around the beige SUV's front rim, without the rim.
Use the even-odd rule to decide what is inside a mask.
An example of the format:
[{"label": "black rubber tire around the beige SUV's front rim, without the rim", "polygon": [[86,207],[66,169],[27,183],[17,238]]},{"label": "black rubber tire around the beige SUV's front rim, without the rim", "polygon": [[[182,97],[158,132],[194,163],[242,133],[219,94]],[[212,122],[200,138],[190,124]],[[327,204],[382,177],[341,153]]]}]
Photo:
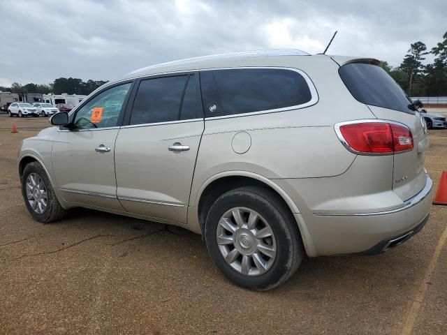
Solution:
[{"label": "black rubber tire around the beige SUV's front rim, without the rim", "polygon": [[[27,178],[29,174],[35,173],[38,174],[39,177],[43,180],[45,184],[45,190],[47,192],[47,207],[42,214],[38,214],[29,204],[27,198]],[[45,170],[42,168],[42,165],[38,162],[29,163],[25,166],[22,176],[22,196],[24,202],[27,206],[29,214],[34,218],[34,220],[41,223],[50,223],[54,221],[58,221],[66,215],[66,210],[61,207],[61,204],[56,198],[54,194],[53,188],[50,183],[50,179],[48,179]]]}]

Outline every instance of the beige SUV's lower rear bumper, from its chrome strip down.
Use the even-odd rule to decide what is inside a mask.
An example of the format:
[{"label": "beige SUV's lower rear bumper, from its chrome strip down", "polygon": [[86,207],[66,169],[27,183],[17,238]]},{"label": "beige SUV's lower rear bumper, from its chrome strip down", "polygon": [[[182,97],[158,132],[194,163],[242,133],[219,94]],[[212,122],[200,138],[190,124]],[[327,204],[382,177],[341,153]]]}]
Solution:
[{"label": "beige SUV's lower rear bumper, from its chrome strip down", "polygon": [[432,185],[427,176],[420,193],[389,211],[314,214],[314,222],[307,225],[314,255],[372,255],[402,244],[425,225],[432,205]]}]

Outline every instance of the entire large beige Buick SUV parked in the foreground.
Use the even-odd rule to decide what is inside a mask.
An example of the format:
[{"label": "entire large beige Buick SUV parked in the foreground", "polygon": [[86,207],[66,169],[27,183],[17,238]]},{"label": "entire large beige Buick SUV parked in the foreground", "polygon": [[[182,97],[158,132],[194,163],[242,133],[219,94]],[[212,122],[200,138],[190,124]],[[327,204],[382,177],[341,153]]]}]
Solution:
[{"label": "entire large beige Buick SUV parked in the foreground", "polygon": [[19,150],[36,221],[87,207],[179,225],[252,290],[286,281],[305,253],[388,251],[432,204],[425,122],[376,59],[175,61],[108,82],[50,121]]}]

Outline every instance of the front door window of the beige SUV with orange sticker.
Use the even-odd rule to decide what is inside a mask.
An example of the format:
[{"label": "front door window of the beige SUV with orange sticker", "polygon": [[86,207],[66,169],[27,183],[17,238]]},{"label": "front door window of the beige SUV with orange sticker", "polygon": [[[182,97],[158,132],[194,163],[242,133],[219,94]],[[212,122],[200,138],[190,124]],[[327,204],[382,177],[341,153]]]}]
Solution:
[{"label": "front door window of the beige SUV with orange sticker", "polygon": [[76,112],[73,128],[84,130],[117,126],[131,85],[131,82],[121,84],[91,98]]}]

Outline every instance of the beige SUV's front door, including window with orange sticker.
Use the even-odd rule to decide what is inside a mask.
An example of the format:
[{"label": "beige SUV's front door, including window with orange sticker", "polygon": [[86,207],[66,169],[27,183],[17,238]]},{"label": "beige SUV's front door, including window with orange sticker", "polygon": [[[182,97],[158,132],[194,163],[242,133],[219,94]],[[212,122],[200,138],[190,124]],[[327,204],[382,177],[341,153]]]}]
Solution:
[{"label": "beige SUV's front door, including window with orange sticker", "polygon": [[133,82],[103,89],[71,114],[52,148],[57,188],[64,200],[123,210],[117,200],[114,150]]}]

